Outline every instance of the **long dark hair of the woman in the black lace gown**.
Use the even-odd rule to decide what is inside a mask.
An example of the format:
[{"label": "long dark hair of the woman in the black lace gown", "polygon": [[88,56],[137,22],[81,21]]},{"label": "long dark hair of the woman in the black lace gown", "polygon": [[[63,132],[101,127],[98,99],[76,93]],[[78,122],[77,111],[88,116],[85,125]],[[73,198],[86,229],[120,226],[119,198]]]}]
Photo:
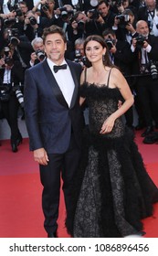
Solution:
[{"label": "long dark hair of the woman in the black lace gown", "polygon": [[86,46],[87,44],[90,42],[90,41],[96,41],[98,43],[100,43],[100,45],[102,46],[102,48],[106,48],[106,53],[105,55],[103,56],[103,65],[104,66],[108,66],[110,68],[116,68],[115,65],[113,65],[111,63],[111,59],[110,59],[110,56],[109,56],[109,49],[107,47],[107,44],[106,42],[104,41],[104,39],[98,35],[93,35],[93,36],[89,36],[86,38],[85,42],[84,42],[84,52],[85,52],[85,55],[86,55]]}]

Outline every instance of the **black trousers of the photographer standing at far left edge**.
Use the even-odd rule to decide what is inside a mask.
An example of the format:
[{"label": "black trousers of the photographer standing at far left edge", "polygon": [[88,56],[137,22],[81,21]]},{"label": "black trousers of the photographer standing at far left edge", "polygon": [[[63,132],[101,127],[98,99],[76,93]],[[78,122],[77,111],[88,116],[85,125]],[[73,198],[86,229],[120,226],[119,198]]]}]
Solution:
[{"label": "black trousers of the photographer standing at far left edge", "polygon": [[1,101],[1,108],[6,121],[10,126],[11,143],[16,144],[16,140],[19,138],[20,135],[17,122],[19,103],[16,99],[16,95],[11,95],[9,101]]}]

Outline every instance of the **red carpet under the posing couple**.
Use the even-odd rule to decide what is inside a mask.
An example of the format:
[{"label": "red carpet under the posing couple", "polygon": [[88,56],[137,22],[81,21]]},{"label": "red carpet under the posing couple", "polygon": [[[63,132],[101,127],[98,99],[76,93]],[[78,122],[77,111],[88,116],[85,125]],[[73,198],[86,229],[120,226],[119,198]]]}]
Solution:
[{"label": "red carpet under the posing couple", "polygon": [[[140,133],[136,142],[144,163],[154,183],[158,186],[158,144],[142,144]],[[43,228],[41,193],[38,165],[28,151],[28,139],[19,145],[19,151],[11,152],[9,141],[0,146],[0,238],[42,238]],[[60,200],[58,236],[67,238],[64,228],[65,207]],[[148,238],[158,238],[158,204],[154,205],[152,218],[144,219],[144,231]]]}]

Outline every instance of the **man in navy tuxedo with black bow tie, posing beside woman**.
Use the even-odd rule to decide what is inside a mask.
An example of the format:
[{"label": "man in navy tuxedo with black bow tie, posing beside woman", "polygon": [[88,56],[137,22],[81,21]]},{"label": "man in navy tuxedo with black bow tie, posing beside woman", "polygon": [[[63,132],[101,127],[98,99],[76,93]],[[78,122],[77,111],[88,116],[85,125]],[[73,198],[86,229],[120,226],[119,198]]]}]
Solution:
[{"label": "man in navy tuxedo with black bow tie, posing beside woman", "polygon": [[43,39],[47,59],[26,70],[26,127],[44,187],[44,227],[48,237],[57,237],[60,175],[68,212],[72,178],[79,165],[81,66],[64,59],[67,44],[62,28],[45,28]]}]

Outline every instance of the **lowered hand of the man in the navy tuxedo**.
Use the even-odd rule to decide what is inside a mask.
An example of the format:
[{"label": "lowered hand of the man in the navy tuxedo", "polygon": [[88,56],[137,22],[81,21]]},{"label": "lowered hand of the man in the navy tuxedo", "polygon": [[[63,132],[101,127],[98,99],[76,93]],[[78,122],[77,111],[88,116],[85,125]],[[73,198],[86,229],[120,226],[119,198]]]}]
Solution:
[{"label": "lowered hand of the man in the navy tuxedo", "polygon": [[47,165],[49,161],[47,152],[43,147],[34,150],[34,159],[39,165]]}]

